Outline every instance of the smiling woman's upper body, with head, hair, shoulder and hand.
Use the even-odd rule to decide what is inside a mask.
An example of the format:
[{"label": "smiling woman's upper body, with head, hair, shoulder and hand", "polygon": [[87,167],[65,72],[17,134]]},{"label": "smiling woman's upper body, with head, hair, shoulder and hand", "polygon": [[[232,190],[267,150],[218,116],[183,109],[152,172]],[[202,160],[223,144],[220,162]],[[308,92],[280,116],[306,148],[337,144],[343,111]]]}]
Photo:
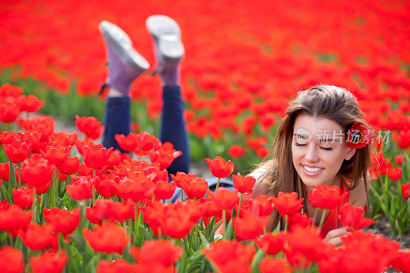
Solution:
[{"label": "smiling woman's upper body, with head, hair, shoulder and hand", "polygon": [[[251,174],[257,183],[248,198],[296,192],[299,198],[304,198],[304,212],[313,217],[315,209],[307,202],[309,192],[319,183],[338,186],[342,193],[348,194],[339,207],[327,214],[322,235],[326,241],[340,244],[340,236],[346,234],[346,229],[338,228],[339,208],[345,202],[363,208],[370,182],[367,170],[371,166],[372,145],[367,143],[372,139],[353,137],[353,141],[362,142],[356,145],[361,148],[354,148],[348,138],[352,125],[359,123],[372,132],[350,92],[335,86],[300,91],[280,122],[270,159]],[[319,224],[320,218],[321,212],[316,215],[315,224]],[[283,217],[275,210],[268,229],[272,230],[279,221],[284,224]]]}]

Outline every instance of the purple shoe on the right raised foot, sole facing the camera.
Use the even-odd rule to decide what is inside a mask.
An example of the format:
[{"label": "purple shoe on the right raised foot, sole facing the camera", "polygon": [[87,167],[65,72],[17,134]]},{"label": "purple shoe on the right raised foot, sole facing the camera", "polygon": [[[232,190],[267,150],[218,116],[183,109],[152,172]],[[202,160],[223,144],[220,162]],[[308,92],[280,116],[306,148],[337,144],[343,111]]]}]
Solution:
[{"label": "purple shoe on the right raised foot, sole facing the camera", "polygon": [[166,86],[175,86],[179,79],[179,62],[185,49],[181,42],[181,30],[174,19],[166,15],[152,15],[146,26],[155,42],[157,72]]}]

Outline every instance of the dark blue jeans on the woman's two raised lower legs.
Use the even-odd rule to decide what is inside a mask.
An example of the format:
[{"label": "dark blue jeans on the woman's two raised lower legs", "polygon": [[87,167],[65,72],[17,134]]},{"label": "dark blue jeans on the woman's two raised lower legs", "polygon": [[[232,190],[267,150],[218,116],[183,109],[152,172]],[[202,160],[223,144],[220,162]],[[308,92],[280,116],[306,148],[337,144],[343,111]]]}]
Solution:
[{"label": "dark blue jeans on the woman's two raised lower legs", "polygon": [[[167,168],[169,174],[176,172],[189,173],[190,153],[188,145],[187,130],[183,120],[183,102],[179,86],[164,86],[162,88],[162,113],[159,138],[161,142],[169,141],[174,149],[181,151],[182,155],[177,157]],[[106,148],[122,150],[114,136],[116,134],[130,133],[130,97],[108,97],[104,124],[106,130],[103,136],[103,145]]]}]

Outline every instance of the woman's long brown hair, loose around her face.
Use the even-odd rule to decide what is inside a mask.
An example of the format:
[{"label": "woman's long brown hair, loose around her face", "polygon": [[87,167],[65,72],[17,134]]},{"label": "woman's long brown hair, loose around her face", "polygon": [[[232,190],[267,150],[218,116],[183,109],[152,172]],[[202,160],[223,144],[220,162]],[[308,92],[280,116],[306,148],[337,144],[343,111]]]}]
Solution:
[{"label": "woman's long brown hair, loose around her face", "polygon": [[[313,118],[328,118],[336,121],[346,134],[355,122],[360,122],[367,129],[372,130],[363,120],[363,112],[357,106],[357,99],[345,89],[335,86],[315,86],[308,90],[299,91],[297,97],[289,103],[286,116],[281,120],[272,149],[267,159],[259,164],[267,170],[258,178],[258,182],[267,186],[264,194],[277,196],[279,192],[296,192],[299,198],[304,198],[304,207],[308,200],[303,182],[292,161],[293,125],[298,115],[305,114]],[[367,194],[367,171],[371,166],[372,145],[356,149],[356,153],[349,160],[344,160],[339,174],[351,181],[348,190],[357,187],[364,180]],[[342,179],[343,180],[343,179]],[[274,211],[273,228],[280,221],[284,228],[283,217]]]}]

